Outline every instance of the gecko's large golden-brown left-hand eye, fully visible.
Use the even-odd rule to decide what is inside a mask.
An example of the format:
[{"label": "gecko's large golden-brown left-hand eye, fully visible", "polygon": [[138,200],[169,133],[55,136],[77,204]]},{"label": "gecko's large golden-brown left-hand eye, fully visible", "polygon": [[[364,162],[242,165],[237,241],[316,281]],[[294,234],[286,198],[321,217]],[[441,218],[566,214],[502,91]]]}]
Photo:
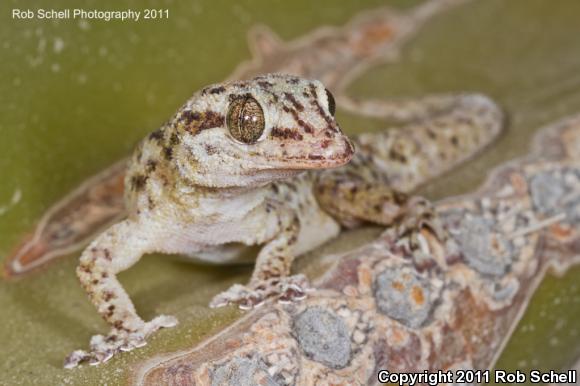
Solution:
[{"label": "gecko's large golden-brown left-hand eye, fully visible", "polygon": [[226,123],[236,140],[247,144],[256,143],[264,132],[264,111],[254,98],[239,97],[230,103]]}]

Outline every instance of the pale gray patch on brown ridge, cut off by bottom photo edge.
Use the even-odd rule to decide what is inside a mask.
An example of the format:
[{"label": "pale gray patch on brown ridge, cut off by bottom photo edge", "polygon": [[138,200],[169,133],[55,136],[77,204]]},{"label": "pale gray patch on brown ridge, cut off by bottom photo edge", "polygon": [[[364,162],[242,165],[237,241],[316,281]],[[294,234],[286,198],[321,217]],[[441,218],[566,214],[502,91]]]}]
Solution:
[{"label": "pale gray patch on brown ridge, cut off by bottom photo edge", "polygon": [[280,386],[258,356],[233,357],[216,367],[212,373],[212,386]]}]

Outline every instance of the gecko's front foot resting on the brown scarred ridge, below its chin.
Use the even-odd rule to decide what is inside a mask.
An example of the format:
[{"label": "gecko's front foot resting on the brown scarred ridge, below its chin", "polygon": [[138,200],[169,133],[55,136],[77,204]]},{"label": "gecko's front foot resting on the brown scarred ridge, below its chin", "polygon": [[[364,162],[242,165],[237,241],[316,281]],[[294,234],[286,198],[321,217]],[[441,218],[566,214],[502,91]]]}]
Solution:
[{"label": "gecko's front foot resting on the brown scarred ridge, below its chin", "polygon": [[294,275],[250,282],[247,286],[234,284],[227,291],[215,296],[209,306],[223,307],[237,304],[242,310],[259,307],[266,299],[277,298],[281,303],[302,300],[311,290],[306,276]]}]

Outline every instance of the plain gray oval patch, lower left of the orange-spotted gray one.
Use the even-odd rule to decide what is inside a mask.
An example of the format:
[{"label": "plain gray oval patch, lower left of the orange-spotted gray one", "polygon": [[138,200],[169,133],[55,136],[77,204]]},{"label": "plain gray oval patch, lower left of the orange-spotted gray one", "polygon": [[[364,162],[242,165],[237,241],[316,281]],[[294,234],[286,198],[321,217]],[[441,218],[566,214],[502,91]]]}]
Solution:
[{"label": "plain gray oval patch, lower left of the orange-spotted gray one", "polygon": [[293,330],[309,359],[335,369],[347,366],[351,341],[340,316],[322,307],[310,307],[296,317]]}]

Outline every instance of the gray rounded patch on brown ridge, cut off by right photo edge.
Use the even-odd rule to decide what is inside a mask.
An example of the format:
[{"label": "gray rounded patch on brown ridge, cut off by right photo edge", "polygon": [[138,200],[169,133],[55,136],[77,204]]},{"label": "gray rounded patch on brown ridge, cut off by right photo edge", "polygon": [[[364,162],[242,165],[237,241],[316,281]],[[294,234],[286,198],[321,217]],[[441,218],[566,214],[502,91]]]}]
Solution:
[{"label": "gray rounded patch on brown ridge, cut off by right photo edge", "polygon": [[544,215],[566,213],[568,221],[580,220],[580,173],[565,168],[542,172],[530,181],[535,209]]}]

